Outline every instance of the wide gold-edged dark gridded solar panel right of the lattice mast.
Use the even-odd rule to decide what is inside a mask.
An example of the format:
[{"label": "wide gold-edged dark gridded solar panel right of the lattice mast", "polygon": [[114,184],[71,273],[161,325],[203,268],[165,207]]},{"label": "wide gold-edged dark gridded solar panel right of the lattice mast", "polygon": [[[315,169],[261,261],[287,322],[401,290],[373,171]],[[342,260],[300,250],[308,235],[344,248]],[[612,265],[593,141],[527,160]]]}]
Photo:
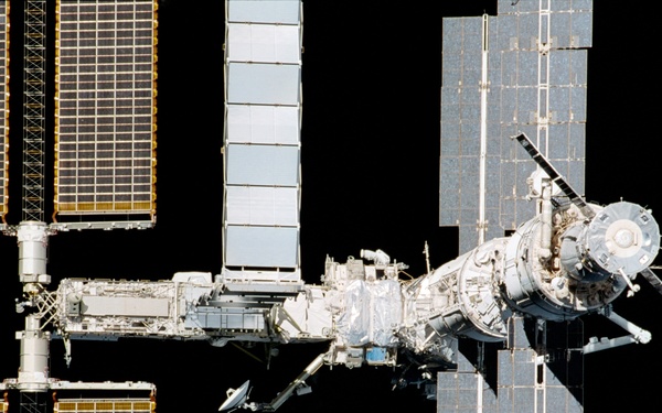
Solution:
[{"label": "wide gold-edged dark gridded solar panel right of the lattice mast", "polygon": [[157,0],[56,4],[55,211],[153,216]]}]

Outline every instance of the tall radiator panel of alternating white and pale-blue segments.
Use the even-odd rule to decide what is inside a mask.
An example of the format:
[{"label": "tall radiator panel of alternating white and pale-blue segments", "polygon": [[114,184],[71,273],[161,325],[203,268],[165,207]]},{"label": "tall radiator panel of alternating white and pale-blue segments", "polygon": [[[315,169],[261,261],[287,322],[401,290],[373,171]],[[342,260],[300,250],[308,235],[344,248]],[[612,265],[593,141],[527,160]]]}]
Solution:
[{"label": "tall radiator panel of alternating white and pale-blue segments", "polygon": [[301,2],[226,4],[223,273],[300,281]]}]

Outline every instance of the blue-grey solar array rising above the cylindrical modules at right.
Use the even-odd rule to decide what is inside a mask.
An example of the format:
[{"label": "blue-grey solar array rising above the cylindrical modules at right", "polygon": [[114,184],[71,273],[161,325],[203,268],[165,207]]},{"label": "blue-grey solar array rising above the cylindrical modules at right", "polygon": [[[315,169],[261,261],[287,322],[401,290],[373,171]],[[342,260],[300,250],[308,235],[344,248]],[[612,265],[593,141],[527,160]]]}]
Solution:
[{"label": "blue-grey solar array rising above the cylindrical modules at right", "polygon": [[591,0],[499,0],[499,15],[445,18],[441,226],[460,252],[535,215],[526,178],[536,164],[510,137],[526,133],[584,192]]}]

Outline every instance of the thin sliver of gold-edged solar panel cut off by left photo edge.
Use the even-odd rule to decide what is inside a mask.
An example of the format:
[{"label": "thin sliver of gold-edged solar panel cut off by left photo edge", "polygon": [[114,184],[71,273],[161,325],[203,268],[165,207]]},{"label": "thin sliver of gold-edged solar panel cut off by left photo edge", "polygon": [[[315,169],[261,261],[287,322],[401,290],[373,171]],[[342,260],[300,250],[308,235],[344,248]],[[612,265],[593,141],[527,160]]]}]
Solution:
[{"label": "thin sliver of gold-edged solar panel cut off by left photo edge", "polygon": [[4,221],[8,204],[9,169],[9,4],[0,1],[0,220]]}]

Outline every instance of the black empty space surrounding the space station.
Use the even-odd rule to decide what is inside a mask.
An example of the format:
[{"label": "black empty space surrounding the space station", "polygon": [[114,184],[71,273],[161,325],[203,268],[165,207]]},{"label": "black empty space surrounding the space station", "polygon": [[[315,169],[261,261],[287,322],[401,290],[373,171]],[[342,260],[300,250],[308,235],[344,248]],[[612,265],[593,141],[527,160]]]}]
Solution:
[{"label": "black empty space surrounding the space station", "polygon": [[[17,3],[12,13],[20,9]],[[656,191],[660,23],[654,7],[642,4],[594,4],[586,196],[601,204],[622,197],[654,214],[662,203]],[[343,261],[362,248],[385,250],[409,264],[414,275],[425,272],[425,241],[433,267],[455,258],[457,232],[437,225],[441,18],[483,11],[495,14],[495,1],[305,0],[301,268],[307,282],[319,282],[327,254]],[[20,31],[13,21],[12,28]],[[161,0],[157,227],[52,237],[52,289],[63,278],[166,280],[177,271],[218,273],[223,41],[223,1]],[[15,188],[22,62],[20,56],[12,62],[10,172]],[[12,191],[8,221],[17,224],[20,189]],[[13,309],[21,293],[17,254],[15,238],[0,237],[0,379],[18,374],[14,332],[23,328],[23,317]],[[587,412],[649,411],[656,402],[662,297],[641,283],[642,291],[618,300],[615,309],[649,329],[653,340],[586,357]],[[586,339],[621,335],[595,316],[585,318],[585,328]],[[270,400],[324,348],[282,346],[267,369],[233,346],[74,341],[67,370],[62,343],[53,341],[51,370],[52,377],[71,381],[153,382],[159,413],[215,412],[225,390],[246,379],[255,384],[253,401]],[[259,346],[254,351],[261,356]],[[414,388],[391,391],[386,368],[323,367],[309,383],[312,394],[295,396],[278,411],[436,411]],[[12,407],[18,411],[18,404]]]}]

